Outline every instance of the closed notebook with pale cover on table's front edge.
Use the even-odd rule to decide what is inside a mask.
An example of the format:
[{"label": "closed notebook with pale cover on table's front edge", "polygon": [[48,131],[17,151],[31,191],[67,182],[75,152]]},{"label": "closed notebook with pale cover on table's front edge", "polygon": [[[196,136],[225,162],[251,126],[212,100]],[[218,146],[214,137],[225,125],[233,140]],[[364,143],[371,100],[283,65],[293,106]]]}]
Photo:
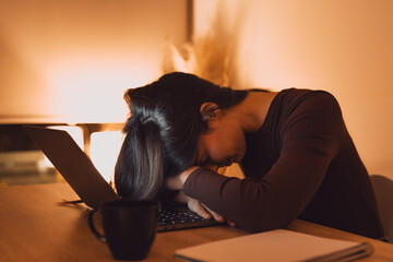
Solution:
[{"label": "closed notebook with pale cover on table's front edge", "polygon": [[352,261],[372,253],[367,242],[315,237],[286,229],[259,233],[179,249],[189,261]]}]

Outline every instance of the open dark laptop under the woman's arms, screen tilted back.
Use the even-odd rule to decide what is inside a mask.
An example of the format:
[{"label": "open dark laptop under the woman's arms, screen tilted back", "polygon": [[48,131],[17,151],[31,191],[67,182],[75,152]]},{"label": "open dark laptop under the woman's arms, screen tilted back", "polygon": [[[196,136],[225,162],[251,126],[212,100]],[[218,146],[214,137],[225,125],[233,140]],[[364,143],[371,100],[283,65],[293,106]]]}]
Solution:
[{"label": "open dark laptop under the woman's arms, screen tilted back", "polygon": [[[105,202],[119,200],[67,131],[33,126],[24,129],[87,206],[97,209]],[[187,206],[162,205],[158,216],[158,231],[217,224],[214,219],[200,217]]]}]

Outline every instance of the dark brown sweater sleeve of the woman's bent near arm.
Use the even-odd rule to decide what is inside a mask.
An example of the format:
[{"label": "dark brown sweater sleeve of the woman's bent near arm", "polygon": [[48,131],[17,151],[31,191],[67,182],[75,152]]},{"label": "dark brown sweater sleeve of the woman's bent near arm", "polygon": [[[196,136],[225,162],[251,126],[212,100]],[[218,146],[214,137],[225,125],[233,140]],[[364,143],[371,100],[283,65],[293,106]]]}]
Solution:
[{"label": "dark brown sweater sleeve of the woman's bent near arm", "polygon": [[230,178],[199,168],[186,180],[184,193],[250,231],[291,223],[322,183],[344,124],[335,98],[315,93],[286,118],[279,157],[262,179]]}]

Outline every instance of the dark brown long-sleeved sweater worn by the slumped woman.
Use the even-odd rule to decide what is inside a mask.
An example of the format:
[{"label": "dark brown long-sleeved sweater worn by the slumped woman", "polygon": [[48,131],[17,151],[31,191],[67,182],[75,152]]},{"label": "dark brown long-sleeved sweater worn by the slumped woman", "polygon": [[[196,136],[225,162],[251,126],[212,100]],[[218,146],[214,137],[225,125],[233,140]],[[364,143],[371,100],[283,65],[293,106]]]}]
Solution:
[{"label": "dark brown long-sleeved sweater worn by the slumped woman", "polygon": [[279,92],[261,129],[246,140],[245,179],[199,168],[186,180],[184,193],[250,231],[301,218],[383,236],[369,175],[332,95]]}]

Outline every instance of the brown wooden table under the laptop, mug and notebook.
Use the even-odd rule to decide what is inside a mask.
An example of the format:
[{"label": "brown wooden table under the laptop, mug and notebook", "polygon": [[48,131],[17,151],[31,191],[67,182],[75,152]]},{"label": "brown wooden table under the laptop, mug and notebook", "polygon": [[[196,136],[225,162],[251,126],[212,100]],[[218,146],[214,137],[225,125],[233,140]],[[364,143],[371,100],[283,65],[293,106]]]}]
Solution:
[{"label": "brown wooden table under the laptop, mug and notebook", "polygon": [[[87,226],[90,209],[63,205],[75,200],[67,183],[0,188],[0,261],[114,261],[106,245]],[[369,241],[374,252],[364,261],[393,261],[393,245],[302,221],[288,229],[315,236]],[[247,233],[216,226],[158,233],[147,261],[176,261],[175,250]]]}]

